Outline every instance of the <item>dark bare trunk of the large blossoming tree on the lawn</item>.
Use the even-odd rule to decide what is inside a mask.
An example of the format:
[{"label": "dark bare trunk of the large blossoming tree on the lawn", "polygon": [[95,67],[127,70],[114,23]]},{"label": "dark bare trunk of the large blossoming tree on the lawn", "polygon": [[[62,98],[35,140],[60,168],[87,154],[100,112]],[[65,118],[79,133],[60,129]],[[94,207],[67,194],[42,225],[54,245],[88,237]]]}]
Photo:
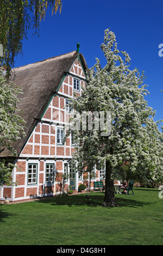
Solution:
[{"label": "dark bare trunk of the large blossoming tree on the lawn", "polygon": [[105,197],[104,197],[104,202],[102,206],[107,207],[113,207],[113,206],[118,206],[115,200],[115,195],[114,195],[114,180],[111,179],[111,164],[107,160],[106,161],[106,166],[105,166]]}]

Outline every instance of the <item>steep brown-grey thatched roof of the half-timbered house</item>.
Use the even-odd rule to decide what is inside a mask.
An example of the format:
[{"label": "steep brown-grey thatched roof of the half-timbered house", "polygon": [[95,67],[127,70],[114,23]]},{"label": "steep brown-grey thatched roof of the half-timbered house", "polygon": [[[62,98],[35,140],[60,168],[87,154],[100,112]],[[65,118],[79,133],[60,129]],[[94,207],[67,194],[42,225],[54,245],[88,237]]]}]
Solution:
[{"label": "steep brown-grey thatched roof of the half-timbered house", "polygon": [[[66,53],[57,57],[42,60],[15,68],[14,83],[22,88],[22,100],[17,108],[22,110],[22,117],[26,121],[26,137],[15,142],[14,148],[17,155],[21,153],[23,145],[37,123],[37,119],[45,110],[49,100],[57,90],[62,77],[70,70],[72,63],[78,56],[77,51]],[[87,65],[82,54],[79,54],[83,68]],[[4,149],[0,157],[10,156],[11,153]]]}]

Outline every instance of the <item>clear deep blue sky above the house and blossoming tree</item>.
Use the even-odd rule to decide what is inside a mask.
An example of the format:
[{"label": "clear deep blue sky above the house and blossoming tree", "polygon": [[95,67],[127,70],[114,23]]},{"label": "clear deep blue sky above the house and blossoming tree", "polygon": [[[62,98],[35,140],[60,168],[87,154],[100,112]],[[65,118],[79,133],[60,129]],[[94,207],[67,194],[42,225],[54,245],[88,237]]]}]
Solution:
[{"label": "clear deep blue sky above the house and blossoming tree", "polygon": [[15,60],[15,67],[38,62],[77,50],[91,68],[96,57],[105,58],[101,50],[104,30],[110,28],[116,35],[118,49],[129,53],[130,69],[145,71],[150,95],[148,106],[156,110],[155,120],[163,119],[163,57],[159,57],[159,44],[163,44],[162,0],[62,0],[62,11],[52,16],[48,8],[45,21],[40,23],[40,36],[28,31],[23,40],[23,57]]}]

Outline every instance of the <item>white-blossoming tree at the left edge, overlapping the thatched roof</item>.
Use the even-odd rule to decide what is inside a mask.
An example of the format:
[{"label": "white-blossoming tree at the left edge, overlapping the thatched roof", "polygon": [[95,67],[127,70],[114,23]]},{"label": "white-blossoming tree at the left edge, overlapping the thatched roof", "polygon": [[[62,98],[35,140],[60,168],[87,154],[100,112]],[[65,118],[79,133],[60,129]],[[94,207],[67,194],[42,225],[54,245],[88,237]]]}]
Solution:
[{"label": "white-blossoming tree at the left edge, overlapping the thatched roof", "polygon": [[[9,82],[4,77],[3,68],[0,68],[0,152],[5,148],[15,154],[12,147],[12,142],[24,136],[23,124],[25,123],[22,117],[18,114],[17,96],[21,93],[21,88],[16,87],[12,82]],[[0,185],[11,185],[11,172],[14,164],[5,162],[0,159]]]}]

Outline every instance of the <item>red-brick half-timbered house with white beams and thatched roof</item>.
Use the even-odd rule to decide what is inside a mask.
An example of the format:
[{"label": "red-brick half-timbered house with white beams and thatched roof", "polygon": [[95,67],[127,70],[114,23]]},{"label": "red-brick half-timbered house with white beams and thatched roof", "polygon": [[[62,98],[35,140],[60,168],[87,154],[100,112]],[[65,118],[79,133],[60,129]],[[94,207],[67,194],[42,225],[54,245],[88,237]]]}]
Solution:
[{"label": "red-brick half-timbered house with white beams and thatched roof", "polygon": [[[17,183],[1,187],[1,200],[6,196],[15,202],[59,194],[62,174],[69,174],[65,190],[71,185],[78,191],[79,184],[85,182],[83,175],[68,164],[74,151],[73,138],[70,135],[65,143],[63,138],[64,125],[72,112],[68,102],[74,92],[81,95],[87,69],[78,50],[14,69],[14,83],[23,92],[18,109],[26,121],[26,137],[14,143],[16,157],[7,149],[1,151],[0,157],[15,164],[12,181]],[[95,172],[98,180],[103,170]]]}]

